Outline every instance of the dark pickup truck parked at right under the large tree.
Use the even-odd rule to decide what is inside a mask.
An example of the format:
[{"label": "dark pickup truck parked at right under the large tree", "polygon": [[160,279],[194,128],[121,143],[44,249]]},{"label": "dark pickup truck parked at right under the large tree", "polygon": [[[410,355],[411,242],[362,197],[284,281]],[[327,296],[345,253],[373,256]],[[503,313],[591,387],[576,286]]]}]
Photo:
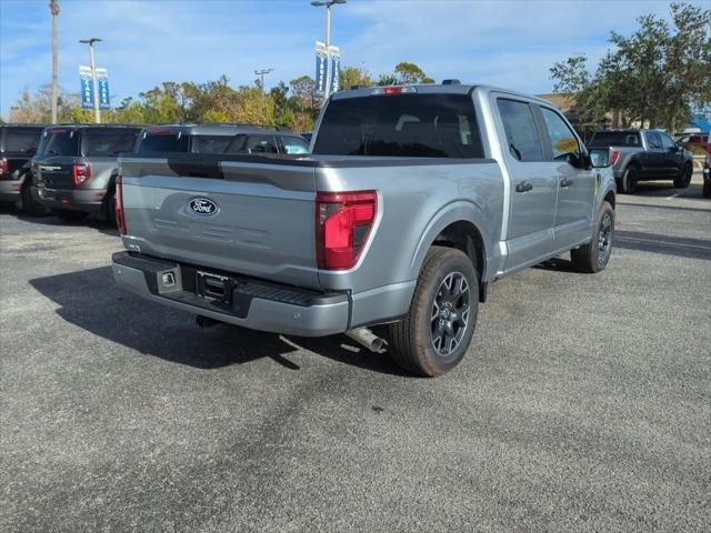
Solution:
[{"label": "dark pickup truck parked at right under the large tree", "polygon": [[640,181],[673,180],[687,188],[693,174],[693,154],[657,130],[599,131],[588,148],[611,148],[618,191],[632,193]]}]

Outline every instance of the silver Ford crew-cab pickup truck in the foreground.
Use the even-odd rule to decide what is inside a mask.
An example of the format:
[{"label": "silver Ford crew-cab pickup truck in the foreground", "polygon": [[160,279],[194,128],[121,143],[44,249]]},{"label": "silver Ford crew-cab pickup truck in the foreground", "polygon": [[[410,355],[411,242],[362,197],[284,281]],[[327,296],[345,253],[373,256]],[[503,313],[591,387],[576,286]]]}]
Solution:
[{"label": "silver Ford crew-cab pickup truck in the foreground", "polygon": [[[308,155],[120,158],[122,286],[256,330],[346,332],[439,375],[487,285],[571,251],[608,263],[614,180],[549,102],[448,82],[341,91]],[[379,328],[379,330],[384,328]]]}]

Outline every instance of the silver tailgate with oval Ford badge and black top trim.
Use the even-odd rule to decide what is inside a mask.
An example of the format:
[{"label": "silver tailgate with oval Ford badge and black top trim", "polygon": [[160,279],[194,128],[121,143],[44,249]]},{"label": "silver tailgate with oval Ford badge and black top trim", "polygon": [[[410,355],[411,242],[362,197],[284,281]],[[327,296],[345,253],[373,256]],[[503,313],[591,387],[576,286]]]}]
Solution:
[{"label": "silver tailgate with oval Ford badge and black top trim", "polygon": [[129,250],[319,286],[311,164],[180,155],[120,165]]}]

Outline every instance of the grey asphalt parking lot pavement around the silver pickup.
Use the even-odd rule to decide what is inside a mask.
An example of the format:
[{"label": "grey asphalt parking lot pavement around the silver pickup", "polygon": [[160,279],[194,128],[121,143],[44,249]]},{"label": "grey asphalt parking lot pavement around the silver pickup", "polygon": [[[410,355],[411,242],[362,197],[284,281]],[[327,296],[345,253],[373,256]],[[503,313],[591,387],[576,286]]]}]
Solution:
[{"label": "grey asphalt parking lot pavement around the silver pickup", "polygon": [[711,201],[618,198],[608,269],[490,288],[434,380],[119,289],[99,222],[0,213],[0,531],[711,531]]}]

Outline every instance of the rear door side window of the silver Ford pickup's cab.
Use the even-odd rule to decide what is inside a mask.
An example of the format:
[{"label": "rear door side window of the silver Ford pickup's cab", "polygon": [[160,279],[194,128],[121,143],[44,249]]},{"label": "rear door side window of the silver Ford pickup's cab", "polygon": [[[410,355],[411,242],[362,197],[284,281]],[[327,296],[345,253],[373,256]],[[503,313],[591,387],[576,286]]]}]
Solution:
[{"label": "rear door side window of the silver Ford pickup's cab", "polygon": [[531,107],[505,99],[499,99],[498,105],[511,155],[519,161],[543,161],[541,138]]}]

